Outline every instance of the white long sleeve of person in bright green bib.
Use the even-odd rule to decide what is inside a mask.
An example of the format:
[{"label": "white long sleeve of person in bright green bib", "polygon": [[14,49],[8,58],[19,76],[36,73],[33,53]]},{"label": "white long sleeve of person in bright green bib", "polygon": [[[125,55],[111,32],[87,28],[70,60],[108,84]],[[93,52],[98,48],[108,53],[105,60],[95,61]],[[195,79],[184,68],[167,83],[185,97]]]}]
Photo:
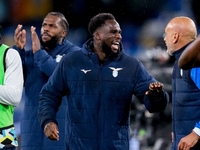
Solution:
[{"label": "white long sleeve of person in bright green bib", "polygon": [[23,71],[19,53],[10,48],[6,54],[4,85],[0,85],[0,103],[17,106],[22,97]]}]

